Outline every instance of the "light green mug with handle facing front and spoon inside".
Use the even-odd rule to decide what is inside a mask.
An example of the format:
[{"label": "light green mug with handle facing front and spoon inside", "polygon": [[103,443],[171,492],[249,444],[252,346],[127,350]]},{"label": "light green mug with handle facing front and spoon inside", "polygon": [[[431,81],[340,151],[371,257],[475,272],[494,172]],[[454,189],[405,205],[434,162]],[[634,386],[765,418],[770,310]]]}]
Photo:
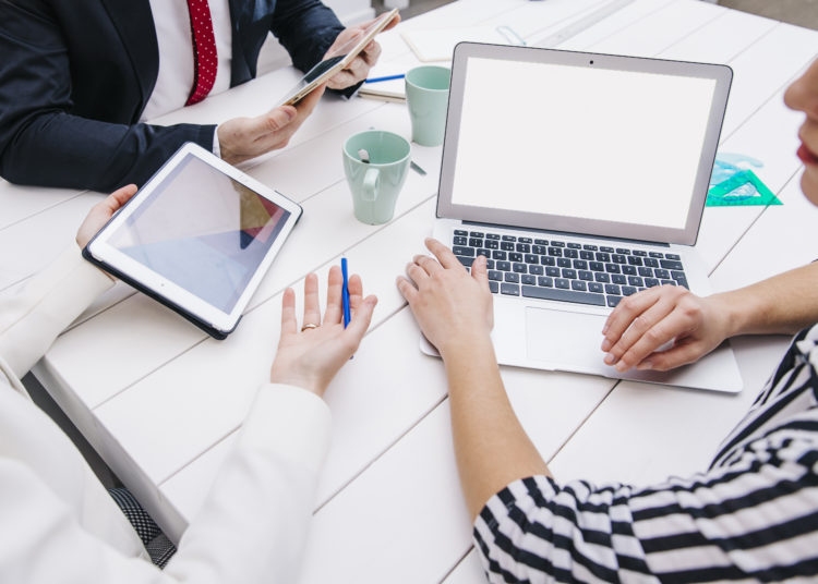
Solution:
[{"label": "light green mug with handle facing front and spoon inside", "polygon": [[[369,162],[361,159],[361,154],[369,155]],[[392,132],[368,130],[347,138],[344,172],[359,221],[376,226],[392,219],[409,170],[410,154],[409,142]]]}]

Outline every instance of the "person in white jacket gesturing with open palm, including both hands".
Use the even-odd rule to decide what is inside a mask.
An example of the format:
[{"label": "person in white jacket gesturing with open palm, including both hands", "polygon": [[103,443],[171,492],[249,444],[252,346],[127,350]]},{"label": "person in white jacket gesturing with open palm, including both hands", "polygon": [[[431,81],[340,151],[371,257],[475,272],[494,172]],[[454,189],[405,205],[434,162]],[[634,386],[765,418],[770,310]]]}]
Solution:
[{"label": "person in white jacket gesturing with open palm, including both hands", "polygon": [[322,321],[317,278],[310,275],[299,329],[294,292],[285,292],[270,382],[258,388],[232,452],[163,571],[20,381],[113,284],[80,250],[135,192],[120,188],[95,206],[75,244],[22,291],[0,299],[0,582],[293,582],[329,440],[322,396],[358,348],[377,301],[364,299],[361,279],[350,278],[353,316],[345,329],[341,275],[333,268]]}]

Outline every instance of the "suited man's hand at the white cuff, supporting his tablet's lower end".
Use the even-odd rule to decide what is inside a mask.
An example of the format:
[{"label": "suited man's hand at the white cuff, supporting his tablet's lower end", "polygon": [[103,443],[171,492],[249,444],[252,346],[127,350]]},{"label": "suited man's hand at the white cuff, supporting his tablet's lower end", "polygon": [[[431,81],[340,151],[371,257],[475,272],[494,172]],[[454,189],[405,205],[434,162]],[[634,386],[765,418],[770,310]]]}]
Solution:
[{"label": "suited man's hand at the white cuff, supporting his tablet's lower end", "polygon": [[281,106],[256,118],[233,118],[217,130],[222,160],[237,165],[284,148],[312,113],[326,85],[310,92],[294,106]]}]

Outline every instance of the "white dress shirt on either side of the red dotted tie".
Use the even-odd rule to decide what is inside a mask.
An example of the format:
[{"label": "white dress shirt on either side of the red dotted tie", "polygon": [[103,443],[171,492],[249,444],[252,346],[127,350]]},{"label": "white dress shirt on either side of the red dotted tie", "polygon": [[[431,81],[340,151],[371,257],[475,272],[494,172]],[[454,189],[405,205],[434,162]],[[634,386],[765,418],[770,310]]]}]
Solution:
[{"label": "white dress shirt on either side of the red dotted tie", "polygon": [[[227,0],[210,0],[213,34],[218,69],[209,95],[230,88],[232,28]],[[151,0],[151,12],[159,44],[159,74],[154,93],[142,112],[142,121],[153,120],[184,107],[193,89],[193,34],[187,0]]]}]

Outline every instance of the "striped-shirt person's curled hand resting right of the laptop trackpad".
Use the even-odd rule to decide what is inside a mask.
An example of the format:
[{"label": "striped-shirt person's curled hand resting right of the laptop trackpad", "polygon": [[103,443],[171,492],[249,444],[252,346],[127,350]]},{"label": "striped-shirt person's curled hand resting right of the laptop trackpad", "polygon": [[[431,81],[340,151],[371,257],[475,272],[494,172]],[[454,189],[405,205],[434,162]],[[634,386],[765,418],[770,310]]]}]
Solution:
[{"label": "striped-shirt person's curled hand resting right of the laptop trackpad", "polygon": [[619,372],[665,372],[693,363],[729,336],[729,314],[719,295],[699,297],[681,285],[649,288],[623,299],[609,315],[604,362]]}]

